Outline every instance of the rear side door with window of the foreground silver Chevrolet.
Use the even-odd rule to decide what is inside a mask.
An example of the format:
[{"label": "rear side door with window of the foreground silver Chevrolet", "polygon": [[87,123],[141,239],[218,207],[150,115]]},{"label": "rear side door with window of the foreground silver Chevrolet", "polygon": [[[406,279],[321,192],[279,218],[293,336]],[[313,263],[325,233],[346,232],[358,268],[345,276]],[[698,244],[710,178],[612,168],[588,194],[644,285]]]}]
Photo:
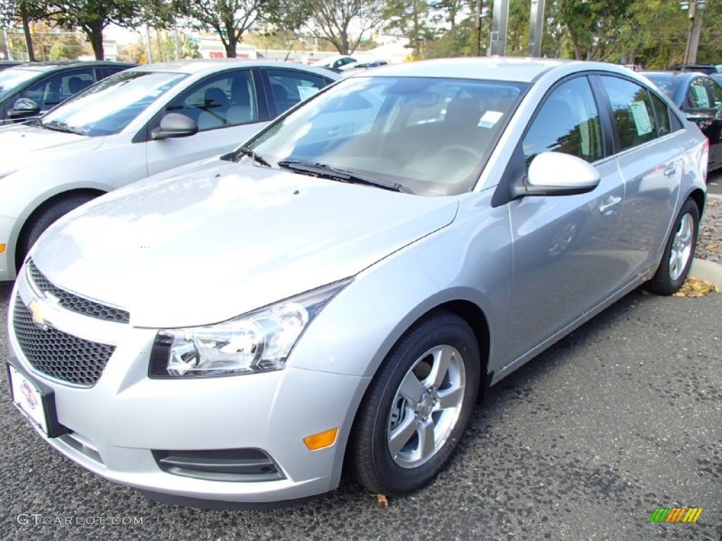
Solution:
[{"label": "rear side door with window of the foreground silver Chevrolet", "polygon": [[684,168],[675,133],[682,123],[664,100],[638,82],[606,75],[599,76],[599,82],[611,105],[617,160],[625,179],[618,249],[630,272],[638,275],[656,265],[679,197]]}]

